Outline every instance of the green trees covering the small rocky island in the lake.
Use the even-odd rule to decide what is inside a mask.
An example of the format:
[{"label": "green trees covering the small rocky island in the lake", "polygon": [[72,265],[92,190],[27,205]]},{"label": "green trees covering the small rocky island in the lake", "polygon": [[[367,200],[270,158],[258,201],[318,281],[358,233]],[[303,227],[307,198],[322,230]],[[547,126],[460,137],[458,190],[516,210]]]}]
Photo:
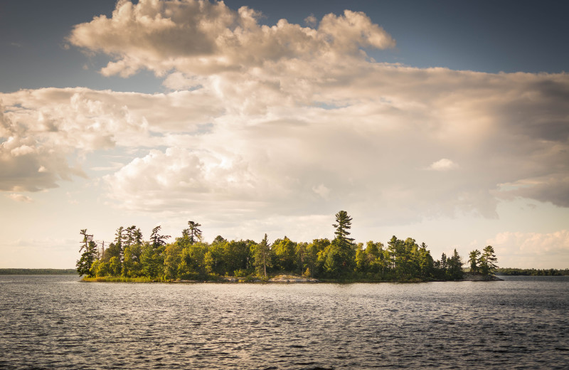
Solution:
[{"label": "green trees covering the small rocky island in the lake", "polygon": [[[80,231],[81,257],[77,272],[87,277],[149,277],[154,280],[216,280],[221,276],[266,280],[270,275],[293,273],[321,280],[429,281],[460,280],[461,256],[442,253],[434,260],[425,243],[413,238],[391,238],[387,245],[350,238],[352,218],[336,213],[334,238],[295,242],[286,236],[268,242],[226,240],[217,236],[212,243],[202,238],[201,224],[188,221],[181,236],[161,235],[156,226],[144,240],[136,226],[119,227],[108,248],[97,248],[87,229]],[[468,260],[473,273],[493,275],[496,256],[489,245],[473,250]]]}]

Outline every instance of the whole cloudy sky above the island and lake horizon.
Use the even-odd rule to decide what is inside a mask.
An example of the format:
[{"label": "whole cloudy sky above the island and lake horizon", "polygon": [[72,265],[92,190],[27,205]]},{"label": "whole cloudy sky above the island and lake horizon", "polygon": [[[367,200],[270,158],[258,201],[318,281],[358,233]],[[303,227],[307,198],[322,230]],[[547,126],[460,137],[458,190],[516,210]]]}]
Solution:
[{"label": "whole cloudy sky above the island and lake horizon", "polygon": [[[133,4],[134,3],[134,4]],[[0,268],[206,241],[569,268],[564,1],[0,2]]]}]

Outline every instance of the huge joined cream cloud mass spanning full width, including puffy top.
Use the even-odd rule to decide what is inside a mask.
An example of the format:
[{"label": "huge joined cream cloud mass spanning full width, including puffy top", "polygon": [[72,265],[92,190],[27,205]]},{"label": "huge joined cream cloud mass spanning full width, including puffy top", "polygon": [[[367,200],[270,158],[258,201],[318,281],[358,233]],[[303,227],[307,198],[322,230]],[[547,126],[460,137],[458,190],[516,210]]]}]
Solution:
[{"label": "huge joined cream cloud mass spanning full width, including puffy top", "polygon": [[236,222],[347,209],[388,225],[495,218],[515,196],[567,206],[569,75],[376,63],[363,49],[394,41],[365,14],[329,14],[317,28],[257,17],[206,1],[119,1],[112,18],[75,26],[71,43],[112,58],[105,73],[154,70],[176,91],[0,95],[12,168],[0,189],[56,186],[78,171],[69,159],[118,147],[137,152],[105,176],[107,194],[138,212]]}]

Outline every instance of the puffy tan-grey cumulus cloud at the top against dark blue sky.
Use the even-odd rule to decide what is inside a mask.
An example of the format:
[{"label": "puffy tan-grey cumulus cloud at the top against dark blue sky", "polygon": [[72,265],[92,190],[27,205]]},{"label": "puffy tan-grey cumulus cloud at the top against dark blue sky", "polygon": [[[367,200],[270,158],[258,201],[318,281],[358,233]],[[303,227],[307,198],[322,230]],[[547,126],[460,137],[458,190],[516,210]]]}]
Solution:
[{"label": "puffy tan-grey cumulus cloud at the top against dark blue sky", "polygon": [[114,56],[101,72],[123,77],[141,68],[157,75],[171,69],[203,75],[297,58],[361,58],[363,48],[395,46],[393,38],[361,12],[328,14],[318,28],[285,19],[262,26],[259,16],[247,6],[233,11],[223,1],[118,1],[111,18],[102,15],[78,24],[68,41]]}]

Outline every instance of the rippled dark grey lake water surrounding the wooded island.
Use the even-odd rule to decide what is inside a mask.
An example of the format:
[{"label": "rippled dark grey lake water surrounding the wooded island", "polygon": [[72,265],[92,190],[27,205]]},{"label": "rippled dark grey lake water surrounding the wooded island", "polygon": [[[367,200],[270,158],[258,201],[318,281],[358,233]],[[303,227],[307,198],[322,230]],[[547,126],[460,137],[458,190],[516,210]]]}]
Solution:
[{"label": "rippled dark grey lake water surrounding the wooded island", "polygon": [[568,369],[569,277],[153,284],[0,276],[4,369]]}]

